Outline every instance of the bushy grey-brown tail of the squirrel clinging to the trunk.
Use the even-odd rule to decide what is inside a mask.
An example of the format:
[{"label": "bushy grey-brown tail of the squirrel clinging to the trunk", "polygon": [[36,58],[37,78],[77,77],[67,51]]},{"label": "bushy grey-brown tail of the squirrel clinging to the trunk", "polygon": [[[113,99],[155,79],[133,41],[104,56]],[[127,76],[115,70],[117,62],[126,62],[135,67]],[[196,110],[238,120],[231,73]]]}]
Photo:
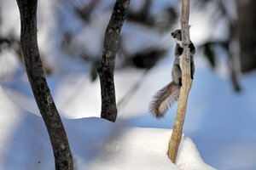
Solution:
[{"label": "bushy grey-brown tail of the squirrel clinging to the trunk", "polygon": [[160,89],[155,94],[153,101],[150,104],[150,112],[156,117],[161,118],[172,104],[177,101],[179,96],[180,86],[175,82],[170,82],[166,87]]}]

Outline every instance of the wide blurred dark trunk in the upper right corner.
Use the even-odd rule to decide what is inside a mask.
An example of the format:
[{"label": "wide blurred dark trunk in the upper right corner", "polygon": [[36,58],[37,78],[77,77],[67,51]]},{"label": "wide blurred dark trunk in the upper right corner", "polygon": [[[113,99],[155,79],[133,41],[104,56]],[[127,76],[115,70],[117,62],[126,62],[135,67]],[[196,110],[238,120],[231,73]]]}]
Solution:
[{"label": "wide blurred dark trunk in the upper right corner", "polygon": [[236,0],[240,41],[241,72],[256,68],[256,1]]}]

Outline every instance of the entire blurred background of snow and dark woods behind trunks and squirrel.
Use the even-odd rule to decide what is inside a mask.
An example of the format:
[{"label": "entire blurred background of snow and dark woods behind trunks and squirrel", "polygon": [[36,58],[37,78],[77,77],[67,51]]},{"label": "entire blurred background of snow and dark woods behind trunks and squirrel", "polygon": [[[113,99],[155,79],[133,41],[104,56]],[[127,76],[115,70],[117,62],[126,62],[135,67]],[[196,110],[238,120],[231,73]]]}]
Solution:
[{"label": "entire blurred background of snow and dark woods behind trunks and squirrel", "polygon": [[[61,116],[100,116],[96,68],[113,0],[38,0],[38,47]],[[183,133],[218,169],[256,168],[256,2],[194,0],[190,39],[195,80]],[[115,85],[118,120],[127,126],[172,128],[177,105],[166,117],[148,113],[152,96],[172,81],[181,2],[130,3],[119,37]],[[15,1],[0,2],[0,81],[18,105],[38,114],[20,48]]]}]

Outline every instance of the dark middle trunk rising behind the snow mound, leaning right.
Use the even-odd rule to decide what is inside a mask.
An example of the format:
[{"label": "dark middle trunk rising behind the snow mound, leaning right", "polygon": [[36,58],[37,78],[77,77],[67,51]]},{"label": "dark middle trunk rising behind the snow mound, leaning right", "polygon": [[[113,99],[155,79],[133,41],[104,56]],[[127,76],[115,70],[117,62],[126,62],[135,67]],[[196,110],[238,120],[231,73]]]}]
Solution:
[{"label": "dark middle trunk rising behind the snow mound, leaning right", "polygon": [[101,117],[111,122],[115,122],[117,117],[113,82],[115,55],[119,44],[119,33],[122,29],[129,3],[130,0],[117,0],[114,4],[113,13],[105,32],[102,62],[98,68],[102,90]]}]

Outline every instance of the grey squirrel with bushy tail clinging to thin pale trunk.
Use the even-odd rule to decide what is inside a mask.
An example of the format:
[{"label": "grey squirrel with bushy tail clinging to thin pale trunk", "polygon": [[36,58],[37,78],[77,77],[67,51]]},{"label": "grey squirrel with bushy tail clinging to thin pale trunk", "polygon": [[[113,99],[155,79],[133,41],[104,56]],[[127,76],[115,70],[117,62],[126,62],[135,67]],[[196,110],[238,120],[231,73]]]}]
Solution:
[{"label": "grey squirrel with bushy tail clinging to thin pale trunk", "polygon": [[[181,30],[176,30],[172,32],[172,37],[176,41],[175,48],[175,59],[172,66],[172,82],[166,85],[166,87],[160,89],[160,91],[154,95],[154,99],[150,104],[150,113],[152,113],[156,118],[161,118],[165,115],[166,111],[172,104],[177,101],[179,97],[179,91],[182,87],[182,70],[180,66],[180,59],[183,54],[183,44],[182,44],[182,33]],[[194,79],[195,65],[194,65],[194,54],[195,46],[193,42],[189,43],[190,49],[190,70],[191,78]]]}]

